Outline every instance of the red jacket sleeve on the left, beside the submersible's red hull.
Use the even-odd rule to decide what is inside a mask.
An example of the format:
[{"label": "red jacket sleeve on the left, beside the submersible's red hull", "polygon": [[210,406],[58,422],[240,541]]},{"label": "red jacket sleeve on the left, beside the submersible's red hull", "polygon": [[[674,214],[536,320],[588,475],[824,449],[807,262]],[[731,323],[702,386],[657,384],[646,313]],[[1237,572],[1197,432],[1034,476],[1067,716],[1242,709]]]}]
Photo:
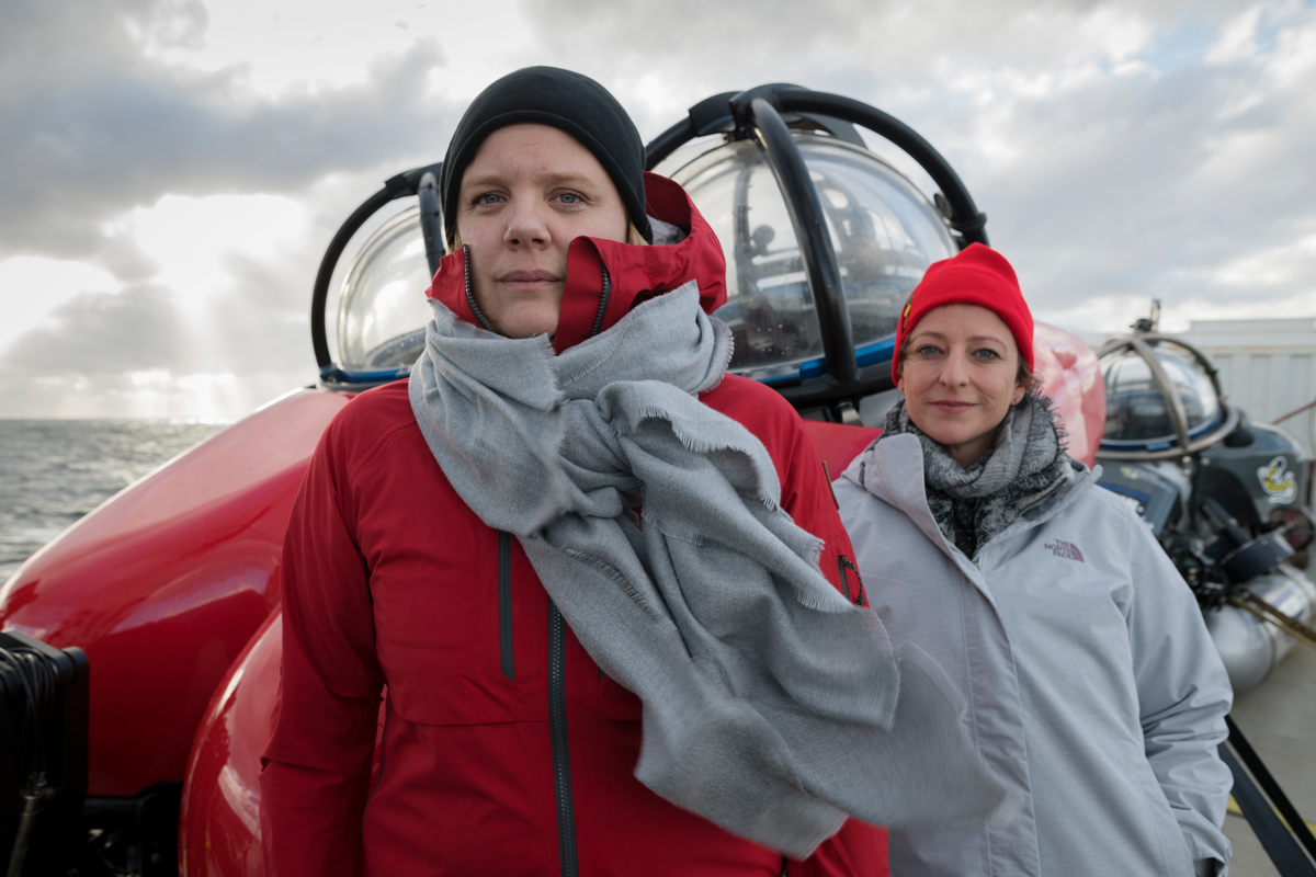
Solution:
[{"label": "red jacket sleeve on the left, beside the submersible's red hull", "polygon": [[330,425],[311,460],[283,547],[282,675],[261,757],[271,877],[365,873],[361,823],[383,676],[333,434]]}]

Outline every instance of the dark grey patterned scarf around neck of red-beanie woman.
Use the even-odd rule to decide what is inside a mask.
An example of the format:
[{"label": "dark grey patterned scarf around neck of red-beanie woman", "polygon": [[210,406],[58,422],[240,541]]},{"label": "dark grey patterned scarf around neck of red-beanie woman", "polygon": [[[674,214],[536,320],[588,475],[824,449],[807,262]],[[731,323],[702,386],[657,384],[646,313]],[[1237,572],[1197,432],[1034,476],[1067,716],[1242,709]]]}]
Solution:
[{"label": "dark grey patterned scarf around neck of red-beanie woman", "polygon": [[923,443],[928,509],[946,540],[973,557],[1019,515],[1074,480],[1050,400],[1028,393],[1011,406],[991,452],[965,468],[913,425],[904,400],[887,412],[882,437],[909,433]]}]

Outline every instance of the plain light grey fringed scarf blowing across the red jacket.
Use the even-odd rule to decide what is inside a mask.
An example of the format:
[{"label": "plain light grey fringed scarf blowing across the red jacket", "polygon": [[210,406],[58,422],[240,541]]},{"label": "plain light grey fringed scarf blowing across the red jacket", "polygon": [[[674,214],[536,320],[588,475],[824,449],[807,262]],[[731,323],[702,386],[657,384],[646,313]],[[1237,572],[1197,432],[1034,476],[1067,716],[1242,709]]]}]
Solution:
[{"label": "plain light grey fringed scarf blowing across the red jacket", "polygon": [[876,617],[828,584],[763,444],[699,402],[732,341],[694,283],[557,356],[546,337],[433,310],[411,380],[425,440],[644,702],[641,782],[797,857],[846,814],[995,806],[936,667],[892,655]]}]

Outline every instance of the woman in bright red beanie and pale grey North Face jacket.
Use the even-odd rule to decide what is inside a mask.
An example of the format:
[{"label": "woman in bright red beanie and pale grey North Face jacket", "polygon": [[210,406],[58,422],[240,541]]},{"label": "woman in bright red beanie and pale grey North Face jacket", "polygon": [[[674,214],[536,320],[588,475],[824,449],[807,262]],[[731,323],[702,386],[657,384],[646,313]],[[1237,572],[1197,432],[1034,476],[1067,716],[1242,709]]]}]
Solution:
[{"label": "woman in bright red beanie and pale grey North Face jacket", "polygon": [[998,252],[933,264],[898,326],[904,398],[836,484],[873,607],[946,669],[1009,790],[986,820],[892,831],[891,873],[1223,874],[1229,681],[1174,565],[1029,392],[1032,337]]}]

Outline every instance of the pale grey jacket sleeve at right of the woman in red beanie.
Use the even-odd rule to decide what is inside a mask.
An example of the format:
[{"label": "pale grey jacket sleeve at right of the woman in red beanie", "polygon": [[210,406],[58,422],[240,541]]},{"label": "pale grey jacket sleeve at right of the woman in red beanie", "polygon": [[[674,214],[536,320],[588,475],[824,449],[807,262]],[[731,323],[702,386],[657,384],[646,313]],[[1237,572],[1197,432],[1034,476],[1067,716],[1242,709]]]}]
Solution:
[{"label": "pale grey jacket sleeve at right of the woman in red beanie", "polygon": [[1220,828],[1233,777],[1220,760],[1233,690],[1188,585],[1150,531],[1128,515],[1129,614],[1142,738],[1195,861],[1229,861]]}]

